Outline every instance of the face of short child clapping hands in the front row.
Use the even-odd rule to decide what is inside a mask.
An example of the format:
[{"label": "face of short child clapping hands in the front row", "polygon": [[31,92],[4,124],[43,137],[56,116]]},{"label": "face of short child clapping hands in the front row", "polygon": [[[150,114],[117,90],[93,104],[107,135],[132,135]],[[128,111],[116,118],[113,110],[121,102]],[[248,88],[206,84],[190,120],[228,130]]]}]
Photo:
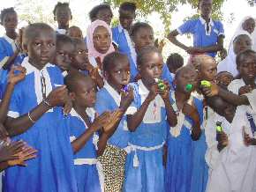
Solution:
[{"label": "face of short child clapping hands in the front row", "polygon": [[94,107],[96,101],[96,85],[91,78],[77,82],[73,102],[79,107]]}]

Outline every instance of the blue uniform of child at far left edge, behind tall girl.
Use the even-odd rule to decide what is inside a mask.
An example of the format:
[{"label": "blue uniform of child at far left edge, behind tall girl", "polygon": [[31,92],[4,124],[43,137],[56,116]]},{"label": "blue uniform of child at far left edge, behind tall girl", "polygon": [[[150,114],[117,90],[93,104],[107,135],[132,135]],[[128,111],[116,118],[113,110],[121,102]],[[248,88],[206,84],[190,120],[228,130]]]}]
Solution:
[{"label": "blue uniform of child at far left edge, behind tall girl", "polygon": [[[14,54],[16,51],[16,44],[15,41],[8,37],[6,34],[4,37],[0,38],[0,99],[3,99],[5,87],[7,84],[7,76],[8,71],[11,69],[10,67],[7,70],[4,70],[2,67],[4,63],[7,62],[9,57]],[[19,54],[15,60],[14,65],[20,65],[24,59],[24,55]]]}]

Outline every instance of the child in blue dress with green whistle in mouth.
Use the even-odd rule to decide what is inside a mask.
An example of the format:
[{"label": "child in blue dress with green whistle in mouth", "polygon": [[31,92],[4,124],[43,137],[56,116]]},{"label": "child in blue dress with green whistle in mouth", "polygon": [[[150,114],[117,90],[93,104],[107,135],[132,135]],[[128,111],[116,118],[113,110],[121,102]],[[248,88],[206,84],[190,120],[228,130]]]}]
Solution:
[{"label": "child in blue dress with green whistle in mouth", "polygon": [[[202,101],[191,95],[197,83],[198,74],[192,67],[185,66],[177,70],[174,80],[176,90],[171,93],[171,105],[177,113],[177,125],[168,129],[166,191],[196,191],[191,189],[194,166],[192,140],[200,138],[200,123],[203,119]],[[192,90],[187,90],[186,85],[192,85]]]}]

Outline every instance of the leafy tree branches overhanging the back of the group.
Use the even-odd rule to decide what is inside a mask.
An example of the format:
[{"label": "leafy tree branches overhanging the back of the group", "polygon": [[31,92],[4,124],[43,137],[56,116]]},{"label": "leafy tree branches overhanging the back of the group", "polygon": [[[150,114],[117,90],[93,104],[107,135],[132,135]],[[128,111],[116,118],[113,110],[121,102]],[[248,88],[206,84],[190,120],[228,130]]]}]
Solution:
[{"label": "leafy tree branches overhanging the back of the group", "polygon": [[[123,2],[127,0],[104,0],[105,3],[108,3],[114,7],[118,7]],[[199,0],[129,0],[134,2],[137,5],[139,15],[146,17],[152,12],[158,12],[162,18],[162,22],[165,25],[165,31],[169,31],[171,13],[177,10],[177,5],[180,4],[191,4],[192,8],[197,8]],[[213,1],[213,18],[222,19],[222,4],[226,0],[214,0]],[[255,0],[245,0],[251,6],[255,5]],[[192,18],[199,17],[199,15],[194,15]],[[188,19],[188,18],[186,18]]]}]

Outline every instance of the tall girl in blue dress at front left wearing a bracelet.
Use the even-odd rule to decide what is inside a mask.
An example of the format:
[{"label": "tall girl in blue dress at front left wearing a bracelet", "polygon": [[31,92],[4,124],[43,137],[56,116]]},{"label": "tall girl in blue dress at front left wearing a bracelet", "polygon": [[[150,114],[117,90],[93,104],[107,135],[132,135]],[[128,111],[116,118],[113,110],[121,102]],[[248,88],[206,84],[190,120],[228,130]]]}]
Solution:
[{"label": "tall girl in blue dress at front left wearing a bracelet", "polygon": [[57,87],[63,85],[63,76],[49,63],[56,51],[56,33],[42,23],[27,26],[25,33],[28,57],[21,65],[26,78],[15,87],[5,125],[13,140],[22,139],[38,150],[38,158],[29,160],[26,168],[6,170],[4,191],[77,191],[62,113],[67,90]]}]

